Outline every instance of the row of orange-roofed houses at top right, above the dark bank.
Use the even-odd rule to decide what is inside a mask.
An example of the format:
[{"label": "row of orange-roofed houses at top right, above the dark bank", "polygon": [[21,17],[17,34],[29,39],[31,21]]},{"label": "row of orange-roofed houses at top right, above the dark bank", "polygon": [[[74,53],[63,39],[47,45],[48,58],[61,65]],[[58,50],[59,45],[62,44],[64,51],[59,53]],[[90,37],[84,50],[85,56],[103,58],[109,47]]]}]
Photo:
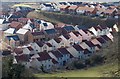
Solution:
[{"label": "row of orange-roofed houses at top right, above the dark bank", "polygon": [[96,16],[115,16],[117,8],[102,8],[100,5],[95,7],[90,6],[77,6],[77,5],[60,5],[60,11],[70,14],[83,14],[83,15],[96,15]]}]

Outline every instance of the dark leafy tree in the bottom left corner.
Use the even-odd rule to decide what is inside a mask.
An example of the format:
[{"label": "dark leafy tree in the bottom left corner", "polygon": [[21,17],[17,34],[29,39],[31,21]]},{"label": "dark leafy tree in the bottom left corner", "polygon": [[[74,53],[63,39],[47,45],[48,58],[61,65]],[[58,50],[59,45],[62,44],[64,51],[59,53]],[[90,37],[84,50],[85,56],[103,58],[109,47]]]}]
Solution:
[{"label": "dark leafy tree in the bottom left corner", "polygon": [[21,64],[13,64],[13,57],[3,58],[3,69],[2,77],[3,79],[21,79],[22,73],[24,73],[25,67]]}]

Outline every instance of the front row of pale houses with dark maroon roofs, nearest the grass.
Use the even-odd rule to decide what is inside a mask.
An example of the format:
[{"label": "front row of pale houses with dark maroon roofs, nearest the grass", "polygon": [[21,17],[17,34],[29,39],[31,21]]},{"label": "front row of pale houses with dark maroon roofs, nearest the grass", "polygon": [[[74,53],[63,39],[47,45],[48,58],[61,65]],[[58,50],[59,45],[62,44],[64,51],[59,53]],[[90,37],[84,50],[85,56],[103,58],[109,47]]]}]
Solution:
[{"label": "front row of pale houses with dark maroon roofs, nearest the grass", "polygon": [[90,41],[57,49],[54,49],[50,43],[39,41],[28,46],[17,47],[12,54],[14,55],[14,63],[22,63],[28,68],[33,67],[38,70],[41,67],[44,67],[45,70],[59,69],[75,59],[89,58],[102,47],[106,47],[108,41],[112,41],[111,38],[102,35]]}]

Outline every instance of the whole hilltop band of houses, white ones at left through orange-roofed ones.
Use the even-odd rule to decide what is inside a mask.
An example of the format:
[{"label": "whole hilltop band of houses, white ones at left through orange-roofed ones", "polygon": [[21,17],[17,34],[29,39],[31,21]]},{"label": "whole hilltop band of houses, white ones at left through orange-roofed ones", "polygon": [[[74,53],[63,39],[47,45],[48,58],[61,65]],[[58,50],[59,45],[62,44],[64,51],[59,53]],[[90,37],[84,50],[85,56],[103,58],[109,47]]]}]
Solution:
[{"label": "whole hilltop band of houses, white ones at left through orange-roofed ones", "polygon": [[87,2],[59,2],[59,3],[43,3],[40,5],[42,11],[57,11],[69,14],[83,14],[90,16],[107,16],[118,18],[116,5],[104,5],[101,3]]}]

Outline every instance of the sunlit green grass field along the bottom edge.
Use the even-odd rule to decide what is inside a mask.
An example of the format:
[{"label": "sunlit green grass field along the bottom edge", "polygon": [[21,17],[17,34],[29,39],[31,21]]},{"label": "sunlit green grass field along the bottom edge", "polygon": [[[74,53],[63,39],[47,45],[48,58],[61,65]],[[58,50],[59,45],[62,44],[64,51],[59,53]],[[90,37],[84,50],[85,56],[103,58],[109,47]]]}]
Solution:
[{"label": "sunlit green grass field along the bottom edge", "polygon": [[35,74],[35,77],[112,77],[110,72],[118,71],[117,64],[106,64],[82,70],[62,71],[52,74]]}]

